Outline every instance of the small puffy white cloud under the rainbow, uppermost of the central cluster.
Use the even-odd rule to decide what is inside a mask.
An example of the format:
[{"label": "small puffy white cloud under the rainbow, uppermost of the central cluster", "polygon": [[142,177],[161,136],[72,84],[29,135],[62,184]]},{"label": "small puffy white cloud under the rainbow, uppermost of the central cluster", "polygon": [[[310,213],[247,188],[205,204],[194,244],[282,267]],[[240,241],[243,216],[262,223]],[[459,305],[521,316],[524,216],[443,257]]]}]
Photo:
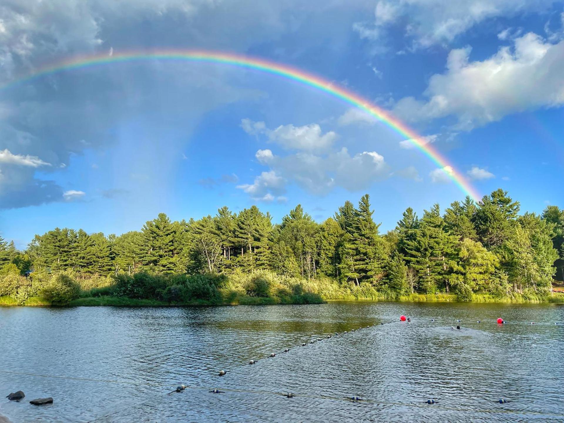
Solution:
[{"label": "small puffy white cloud under the rainbow, uppermost of the central cluster", "polygon": [[265,122],[243,119],[241,120],[241,127],[250,135],[266,135],[270,142],[279,144],[285,149],[321,151],[331,147],[334,140],[337,139],[337,134],[333,131],[323,134],[318,124],[280,125],[276,129],[270,130],[266,127]]}]

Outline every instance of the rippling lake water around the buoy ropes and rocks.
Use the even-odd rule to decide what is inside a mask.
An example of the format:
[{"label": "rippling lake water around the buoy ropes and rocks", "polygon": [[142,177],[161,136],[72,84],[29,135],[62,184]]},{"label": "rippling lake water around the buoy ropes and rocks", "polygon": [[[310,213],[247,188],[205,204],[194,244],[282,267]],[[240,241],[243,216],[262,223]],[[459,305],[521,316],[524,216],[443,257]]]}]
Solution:
[{"label": "rippling lake water around the buoy ropes and rocks", "polygon": [[[412,322],[400,323],[401,314]],[[499,316],[508,323],[496,324]],[[0,371],[66,377],[0,373],[2,398],[26,395],[0,400],[0,415],[14,423],[562,421],[563,321],[561,305],[0,307]],[[189,387],[170,393],[179,384]],[[209,392],[216,388],[223,392]],[[29,404],[46,396],[54,404]]]}]

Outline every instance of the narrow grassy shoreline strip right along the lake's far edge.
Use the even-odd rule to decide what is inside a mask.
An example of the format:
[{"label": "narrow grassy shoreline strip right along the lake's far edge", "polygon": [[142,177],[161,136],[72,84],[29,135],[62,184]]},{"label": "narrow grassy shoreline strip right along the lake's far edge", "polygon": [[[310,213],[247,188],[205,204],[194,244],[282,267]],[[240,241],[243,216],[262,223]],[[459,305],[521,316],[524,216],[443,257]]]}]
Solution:
[{"label": "narrow grassy shoreline strip right along the lake's far edge", "polygon": [[[38,297],[24,305],[18,305],[11,297],[0,297],[0,306],[11,307],[61,307],[41,301]],[[526,298],[518,297],[492,297],[487,294],[474,294],[472,301],[458,301],[455,294],[411,294],[399,298],[382,297],[355,297],[342,296],[336,298],[324,298],[315,294],[310,297],[237,297],[232,301],[206,301],[195,300],[190,302],[166,302],[156,299],[136,299],[115,296],[99,296],[77,298],[64,307],[210,307],[210,306],[239,306],[239,305],[300,305],[300,304],[323,304],[332,302],[452,302],[452,303],[498,303],[498,304],[564,304],[564,294],[554,293],[548,298]],[[3,423],[0,420],[0,423]]]}]

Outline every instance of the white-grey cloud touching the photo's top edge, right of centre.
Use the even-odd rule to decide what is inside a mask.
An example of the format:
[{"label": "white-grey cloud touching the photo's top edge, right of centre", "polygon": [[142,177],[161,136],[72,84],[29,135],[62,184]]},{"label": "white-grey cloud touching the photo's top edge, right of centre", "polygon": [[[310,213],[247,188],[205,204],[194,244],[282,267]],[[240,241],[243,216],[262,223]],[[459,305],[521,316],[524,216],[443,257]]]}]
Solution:
[{"label": "white-grey cloud touching the photo's top edge, right of centre", "polygon": [[353,29],[361,38],[379,42],[387,30],[400,29],[412,41],[412,47],[426,48],[451,43],[488,19],[545,10],[552,3],[552,0],[380,0],[374,9],[374,20],[355,23]]}]

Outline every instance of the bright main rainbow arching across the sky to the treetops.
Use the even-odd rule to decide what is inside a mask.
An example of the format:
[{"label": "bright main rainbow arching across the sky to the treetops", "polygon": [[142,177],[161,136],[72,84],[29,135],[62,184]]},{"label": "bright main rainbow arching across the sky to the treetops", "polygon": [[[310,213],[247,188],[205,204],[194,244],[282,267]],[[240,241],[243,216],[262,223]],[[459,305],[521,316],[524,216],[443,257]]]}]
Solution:
[{"label": "bright main rainbow arching across the sky to the treetops", "polygon": [[369,102],[367,99],[355,94],[350,90],[335,85],[333,82],[325,80],[314,74],[304,72],[301,69],[293,68],[288,65],[267,61],[264,59],[253,58],[250,56],[243,56],[219,51],[201,51],[201,50],[158,50],[158,51],[144,51],[144,52],[123,52],[112,55],[92,55],[92,56],[79,56],[69,60],[63,60],[56,64],[47,65],[36,72],[28,74],[27,76],[18,78],[14,81],[7,83],[0,87],[2,89],[15,85],[21,82],[32,81],[46,75],[58,73],[64,70],[81,69],[93,65],[105,65],[111,63],[122,63],[130,61],[142,60],[184,60],[195,61],[201,63],[215,63],[226,64],[240,68],[261,70],[262,72],[274,74],[276,76],[287,78],[288,80],[297,81],[310,87],[314,87],[320,91],[326,92],[343,102],[359,108],[364,112],[376,117],[377,120],[389,126],[396,133],[408,139],[417,149],[419,149],[425,156],[433,161],[444,173],[450,177],[453,182],[460,188],[462,192],[469,195],[475,201],[480,199],[478,192],[470,185],[468,180],[456,170],[455,166],[450,164],[445,157],[430,144],[426,144],[424,138],[418,135],[415,131],[410,129],[407,125],[400,122],[390,113],[377,105]]}]

